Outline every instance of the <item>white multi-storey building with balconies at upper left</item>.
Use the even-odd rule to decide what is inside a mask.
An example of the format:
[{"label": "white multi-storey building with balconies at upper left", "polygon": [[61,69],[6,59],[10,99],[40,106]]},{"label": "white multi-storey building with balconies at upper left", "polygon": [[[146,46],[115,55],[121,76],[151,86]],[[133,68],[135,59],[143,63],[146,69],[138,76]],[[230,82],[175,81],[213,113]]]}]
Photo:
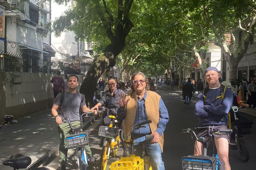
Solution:
[{"label": "white multi-storey building with balconies at upper left", "polygon": [[21,70],[18,70],[20,72],[46,72],[47,67],[43,62],[50,61],[55,55],[49,31],[51,1],[45,1],[40,7],[37,3],[36,0],[0,2],[5,7],[6,30],[6,45],[0,44],[0,51],[22,59]]}]

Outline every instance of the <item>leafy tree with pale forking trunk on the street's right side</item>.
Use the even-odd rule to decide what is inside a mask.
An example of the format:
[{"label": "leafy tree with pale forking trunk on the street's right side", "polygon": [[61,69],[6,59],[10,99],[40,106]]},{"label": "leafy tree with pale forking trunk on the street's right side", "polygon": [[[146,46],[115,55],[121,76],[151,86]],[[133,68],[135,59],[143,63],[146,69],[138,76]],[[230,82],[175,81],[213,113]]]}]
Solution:
[{"label": "leafy tree with pale forking trunk on the street's right side", "polygon": [[[213,42],[222,49],[230,66],[229,80],[235,80],[238,63],[244,57],[252,40],[252,31],[256,24],[256,2],[253,0],[177,0],[174,4],[181,6],[183,11],[190,14],[191,20],[201,28],[202,36],[206,41]],[[234,27],[246,33],[240,45],[233,35]],[[226,33],[230,33],[232,37],[230,44],[226,40]]]}]

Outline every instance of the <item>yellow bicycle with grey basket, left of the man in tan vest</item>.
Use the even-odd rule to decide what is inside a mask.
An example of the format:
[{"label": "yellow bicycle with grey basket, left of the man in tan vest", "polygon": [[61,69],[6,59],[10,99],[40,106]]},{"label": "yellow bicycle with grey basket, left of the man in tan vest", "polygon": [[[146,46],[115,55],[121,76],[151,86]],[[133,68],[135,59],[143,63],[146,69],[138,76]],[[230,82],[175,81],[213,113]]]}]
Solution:
[{"label": "yellow bicycle with grey basket, left of the man in tan vest", "polygon": [[105,170],[107,167],[110,150],[115,157],[117,154],[119,143],[121,139],[119,137],[119,128],[118,128],[118,120],[115,116],[109,114],[109,109],[102,107],[103,111],[107,112],[107,116],[110,118],[109,126],[100,126],[98,135],[100,137],[105,138],[105,141],[102,146],[102,151],[100,155],[100,163],[101,169]]}]

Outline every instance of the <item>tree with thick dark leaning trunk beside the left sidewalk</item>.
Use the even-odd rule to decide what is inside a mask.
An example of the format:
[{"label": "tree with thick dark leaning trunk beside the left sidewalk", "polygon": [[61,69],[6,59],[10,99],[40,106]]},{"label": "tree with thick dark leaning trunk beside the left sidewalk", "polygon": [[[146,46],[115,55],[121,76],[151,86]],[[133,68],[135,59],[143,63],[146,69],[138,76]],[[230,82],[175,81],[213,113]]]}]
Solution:
[{"label": "tree with thick dark leaning trunk beside the left sidewalk", "polygon": [[[67,3],[68,0],[56,0],[57,3]],[[130,20],[130,10],[133,0],[99,1],[74,0],[72,8],[54,22],[55,35],[62,31],[74,31],[77,39],[88,40],[105,46],[101,53],[95,55],[92,65],[86,74],[80,92],[85,95],[87,104],[92,103],[97,81],[106,67],[115,65],[116,57],[125,47],[125,39],[133,23]]]}]

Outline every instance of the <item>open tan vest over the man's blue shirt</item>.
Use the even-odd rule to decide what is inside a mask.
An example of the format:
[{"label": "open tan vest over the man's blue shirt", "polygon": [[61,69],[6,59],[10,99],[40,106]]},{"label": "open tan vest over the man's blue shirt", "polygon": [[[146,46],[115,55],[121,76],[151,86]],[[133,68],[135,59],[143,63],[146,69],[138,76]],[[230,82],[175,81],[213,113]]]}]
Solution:
[{"label": "open tan vest over the man's blue shirt", "polygon": [[[148,120],[151,120],[152,123],[149,124],[151,132],[155,132],[157,128],[157,124],[159,122],[159,100],[161,96],[156,94],[153,91],[147,91],[147,97],[145,99],[145,106],[148,115]],[[137,110],[137,94],[136,92],[132,92],[131,94],[127,94],[125,100],[130,99],[126,106],[126,115],[124,120],[124,136],[125,140],[131,139],[131,130],[134,123],[136,110]],[[164,133],[161,135],[160,140],[158,142],[159,146],[163,152],[164,146]]]}]

